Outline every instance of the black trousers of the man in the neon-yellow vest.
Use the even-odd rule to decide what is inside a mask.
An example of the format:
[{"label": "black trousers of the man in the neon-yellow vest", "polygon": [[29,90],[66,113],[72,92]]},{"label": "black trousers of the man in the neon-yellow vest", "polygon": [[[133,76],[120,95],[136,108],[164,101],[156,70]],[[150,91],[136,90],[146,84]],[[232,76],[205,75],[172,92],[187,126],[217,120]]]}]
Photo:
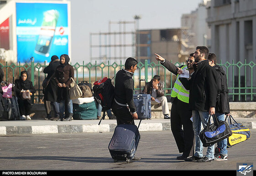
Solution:
[{"label": "black trousers of the man in the neon-yellow vest", "polygon": [[191,116],[188,103],[175,98],[171,106],[171,131],[179,152],[183,152],[182,156],[193,156],[194,131]]}]

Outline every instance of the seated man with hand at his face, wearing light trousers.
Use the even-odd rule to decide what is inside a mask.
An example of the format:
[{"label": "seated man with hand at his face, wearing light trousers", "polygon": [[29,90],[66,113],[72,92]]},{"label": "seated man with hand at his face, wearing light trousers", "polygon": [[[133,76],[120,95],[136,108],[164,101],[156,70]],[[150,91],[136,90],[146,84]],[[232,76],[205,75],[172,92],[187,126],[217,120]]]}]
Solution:
[{"label": "seated man with hand at his face, wearing light trousers", "polygon": [[151,95],[151,105],[161,104],[164,119],[170,119],[169,107],[163,85],[160,83],[160,76],[155,75],[150,82],[147,82],[142,91],[143,94]]}]

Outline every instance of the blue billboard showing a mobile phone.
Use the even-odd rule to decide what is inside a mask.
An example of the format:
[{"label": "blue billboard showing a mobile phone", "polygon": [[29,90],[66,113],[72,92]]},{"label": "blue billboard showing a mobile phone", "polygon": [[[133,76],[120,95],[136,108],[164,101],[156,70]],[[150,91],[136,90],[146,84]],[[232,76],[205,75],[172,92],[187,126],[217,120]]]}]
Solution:
[{"label": "blue billboard showing a mobile phone", "polygon": [[16,3],[17,61],[50,62],[69,54],[68,5]]}]

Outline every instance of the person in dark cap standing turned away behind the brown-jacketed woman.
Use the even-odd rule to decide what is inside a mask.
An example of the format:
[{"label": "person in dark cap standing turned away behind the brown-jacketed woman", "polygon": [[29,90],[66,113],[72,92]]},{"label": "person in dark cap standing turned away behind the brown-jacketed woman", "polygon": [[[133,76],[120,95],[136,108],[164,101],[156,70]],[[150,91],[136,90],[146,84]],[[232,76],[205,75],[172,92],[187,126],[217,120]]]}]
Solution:
[{"label": "person in dark cap standing turned away behind the brown-jacketed woman", "polygon": [[59,103],[57,102],[58,86],[56,81],[54,80],[54,73],[58,66],[59,66],[59,57],[57,55],[53,55],[49,65],[43,69],[43,73],[47,73],[46,79],[48,80],[50,79],[49,84],[43,91],[44,107],[46,109],[46,114],[47,114],[46,119],[48,120],[52,118],[51,105],[53,106],[54,117],[57,117],[59,119]]}]

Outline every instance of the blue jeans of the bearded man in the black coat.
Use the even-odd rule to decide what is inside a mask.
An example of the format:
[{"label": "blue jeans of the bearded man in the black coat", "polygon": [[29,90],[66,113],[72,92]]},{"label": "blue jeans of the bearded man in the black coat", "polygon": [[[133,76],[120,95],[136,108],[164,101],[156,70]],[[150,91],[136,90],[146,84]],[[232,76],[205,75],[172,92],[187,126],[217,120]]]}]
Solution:
[{"label": "blue jeans of the bearded man in the black coat", "polygon": [[[192,121],[193,121],[193,130],[195,135],[195,154],[194,156],[203,157],[203,143],[199,138],[199,133],[201,131],[201,126],[203,128],[207,126],[209,119],[208,111],[196,111],[192,110]],[[206,157],[213,159],[214,158],[214,145],[208,146]]]}]

